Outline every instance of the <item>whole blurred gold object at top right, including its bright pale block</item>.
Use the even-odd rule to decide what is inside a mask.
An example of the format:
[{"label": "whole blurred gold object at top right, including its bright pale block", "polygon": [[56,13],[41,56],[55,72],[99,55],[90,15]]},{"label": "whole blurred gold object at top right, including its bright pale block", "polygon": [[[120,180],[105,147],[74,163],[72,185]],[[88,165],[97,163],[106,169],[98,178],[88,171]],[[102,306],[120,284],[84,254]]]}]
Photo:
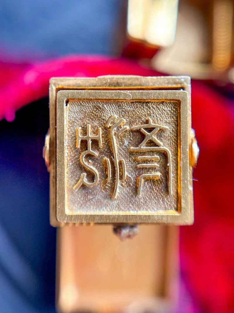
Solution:
[{"label": "whole blurred gold object at top right, including its bright pale block", "polygon": [[234,0],[176,2],[129,0],[127,35],[161,48],[151,66],[162,73],[233,83]]}]

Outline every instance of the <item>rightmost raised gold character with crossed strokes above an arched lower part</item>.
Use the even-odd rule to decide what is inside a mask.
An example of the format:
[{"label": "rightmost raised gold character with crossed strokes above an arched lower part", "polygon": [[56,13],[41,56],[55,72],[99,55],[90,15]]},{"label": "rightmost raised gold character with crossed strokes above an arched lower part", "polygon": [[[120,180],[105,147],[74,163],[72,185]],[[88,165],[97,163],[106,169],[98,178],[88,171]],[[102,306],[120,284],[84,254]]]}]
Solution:
[{"label": "rightmost raised gold character with crossed strokes above an arched lower part", "polygon": [[[163,146],[163,143],[158,140],[156,135],[160,131],[166,131],[168,130],[168,127],[161,126],[158,124],[152,123],[152,120],[149,118],[147,119],[147,124],[144,125],[138,125],[131,127],[131,130],[133,131],[140,131],[145,135],[144,140],[139,144],[138,147],[131,147],[129,150],[131,152],[151,152],[151,151],[161,151],[167,155],[168,158],[168,191],[169,194],[172,194],[172,165],[171,165],[171,152],[168,148]],[[154,143],[154,146],[146,146],[147,143]],[[137,161],[153,161],[153,162],[144,162],[137,164],[137,168],[158,168],[158,163],[155,161],[159,160],[158,155],[143,155],[143,156],[137,156]],[[161,174],[160,172],[151,172],[149,174],[142,174],[137,178],[137,193],[140,196],[142,186],[144,184],[144,180],[150,179],[150,180],[158,180],[160,178]]]}]

